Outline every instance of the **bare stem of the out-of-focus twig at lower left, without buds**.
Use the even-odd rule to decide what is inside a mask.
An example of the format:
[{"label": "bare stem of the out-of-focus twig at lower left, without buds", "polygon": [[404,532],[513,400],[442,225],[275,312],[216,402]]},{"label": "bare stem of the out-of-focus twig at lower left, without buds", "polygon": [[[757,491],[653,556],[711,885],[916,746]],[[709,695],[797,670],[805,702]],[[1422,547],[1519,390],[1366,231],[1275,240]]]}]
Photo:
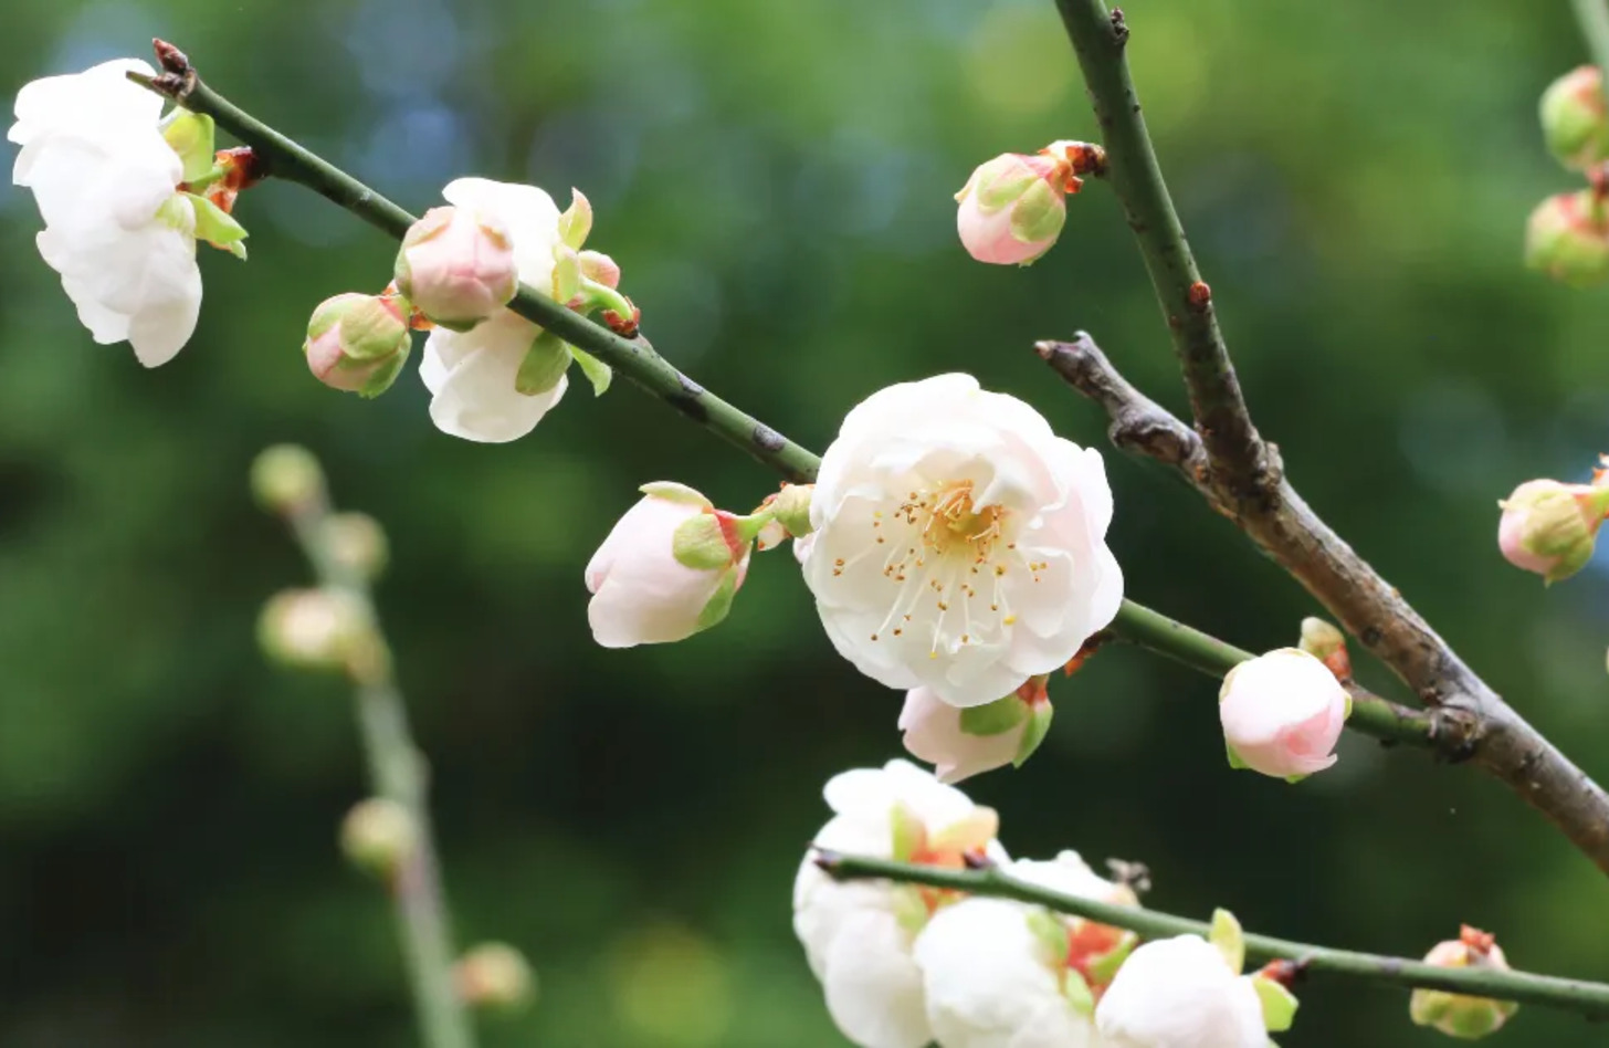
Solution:
[{"label": "bare stem of the out-of-focus twig at lower left, without buds", "polygon": [[364,660],[352,673],[354,703],[370,789],[401,805],[417,832],[414,848],[391,887],[420,1034],[426,1048],[475,1048],[475,1032],[454,980],[452,927],[430,827],[425,760],[409,731],[407,707],[380,634],[368,581],[333,555],[327,541],[328,518],[330,505],[322,489],[288,514],[291,531],[319,584],[351,594],[375,633],[378,657]]}]

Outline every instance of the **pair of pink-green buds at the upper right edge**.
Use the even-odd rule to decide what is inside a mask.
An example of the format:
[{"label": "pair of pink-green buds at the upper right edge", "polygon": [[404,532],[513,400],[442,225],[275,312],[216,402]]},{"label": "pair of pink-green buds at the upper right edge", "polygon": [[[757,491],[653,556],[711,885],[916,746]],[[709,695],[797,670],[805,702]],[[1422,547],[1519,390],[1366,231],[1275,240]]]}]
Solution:
[{"label": "pair of pink-green buds at the upper right edge", "polygon": [[1537,204],[1525,225],[1525,264],[1561,283],[1586,287],[1609,279],[1609,116],[1603,72],[1582,66],[1541,95],[1541,132],[1548,151],[1588,187]]}]

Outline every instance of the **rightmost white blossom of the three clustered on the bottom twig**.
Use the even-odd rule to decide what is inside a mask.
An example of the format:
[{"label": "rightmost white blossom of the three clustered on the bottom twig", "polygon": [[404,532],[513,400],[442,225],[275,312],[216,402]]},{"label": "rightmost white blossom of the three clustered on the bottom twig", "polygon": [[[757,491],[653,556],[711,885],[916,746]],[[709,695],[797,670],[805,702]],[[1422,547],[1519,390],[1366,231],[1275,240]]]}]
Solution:
[{"label": "rightmost white blossom of the three clustered on the bottom twig", "polygon": [[1096,1008],[1110,1048],[1266,1048],[1250,976],[1229,971],[1200,935],[1147,942],[1123,961]]}]

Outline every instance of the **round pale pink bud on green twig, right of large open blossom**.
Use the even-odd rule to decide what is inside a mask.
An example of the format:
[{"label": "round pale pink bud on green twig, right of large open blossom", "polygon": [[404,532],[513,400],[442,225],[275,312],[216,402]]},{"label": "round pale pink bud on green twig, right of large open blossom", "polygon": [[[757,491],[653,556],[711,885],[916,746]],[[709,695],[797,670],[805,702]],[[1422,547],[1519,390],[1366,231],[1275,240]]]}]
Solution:
[{"label": "round pale pink bud on green twig, right of large open blossom", "polygon": [[1232,766],[1298,779],[1335,763],[1352,699],[1329,666],[1294,647],[1242,662],[1223,678],[1218,718]]}]

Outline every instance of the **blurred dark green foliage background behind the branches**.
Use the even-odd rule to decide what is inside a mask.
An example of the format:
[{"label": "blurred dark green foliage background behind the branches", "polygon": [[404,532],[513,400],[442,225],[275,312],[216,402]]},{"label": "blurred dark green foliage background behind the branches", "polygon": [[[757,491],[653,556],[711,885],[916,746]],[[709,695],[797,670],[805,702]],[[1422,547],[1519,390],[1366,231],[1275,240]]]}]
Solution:
[{"label": "blurred dark green foliage background behind the branches", "polygon": [[[1585,58],[1562,0],[1134,0],[1130,53],[1242,382],[1297,485],[1488,679],[1609,776],[1609,565],[1545,592],[1495,499],[1609,451],[1603,293],[1519,267],[1572,188],[1535,100]],[[285,0],[6,11],[6,89],[175,40],[238,103],[415,209],[460,174],[597,208],[661,351],[821,449],[858,399],[949,369],[1102,420],[1030,351],[1093,330],[1181,406],[1110,193],[1028,270],[973,264],[954,193],[1001,151],[1094,137],[1049,0]],[[11,153],[8,153],[10,156]],[[307,571],[257,512],[264,444],[380,517],[380,589],[434,771],[460,939],[541,971],[486,1045],[825,1046],[790,929],[833,773],[899,753],[899,697],[840,662],[785,554],[690,642],[594,647],[581,568],[637,485],[734,509],[776,480],[621,383],[510,446],[434,431],[405,375],[317,385],[307,312],[394,246],[288,185],[241,200],[161,369],[79,328],[0,195],[0,1043],[407,1045],[381,895],[336,824],[364,795],[344,687],[265,665],[254,618]],[[1150,467],[1110,459],[1130,594],[1255,649],[1311,602]],[[1372,684],[1390,689],[1377,666]],[[1397,692],[1393,692],[1397,694]],[[1418,955],[1467,921],[1514,963],[1609,979],[1609,885],[1503,787],[1348,737],[1287,789],[1223,761],[1215,684],[1134,650],[1052,687],[1056,729],[969,792],[1014,853],[1150,864],[1150,903]],[[1524,1009],[1495,1043],[1603,1030]],[[1287,1045],[1435,1045],[1406,996],[1319,979]]]}]

